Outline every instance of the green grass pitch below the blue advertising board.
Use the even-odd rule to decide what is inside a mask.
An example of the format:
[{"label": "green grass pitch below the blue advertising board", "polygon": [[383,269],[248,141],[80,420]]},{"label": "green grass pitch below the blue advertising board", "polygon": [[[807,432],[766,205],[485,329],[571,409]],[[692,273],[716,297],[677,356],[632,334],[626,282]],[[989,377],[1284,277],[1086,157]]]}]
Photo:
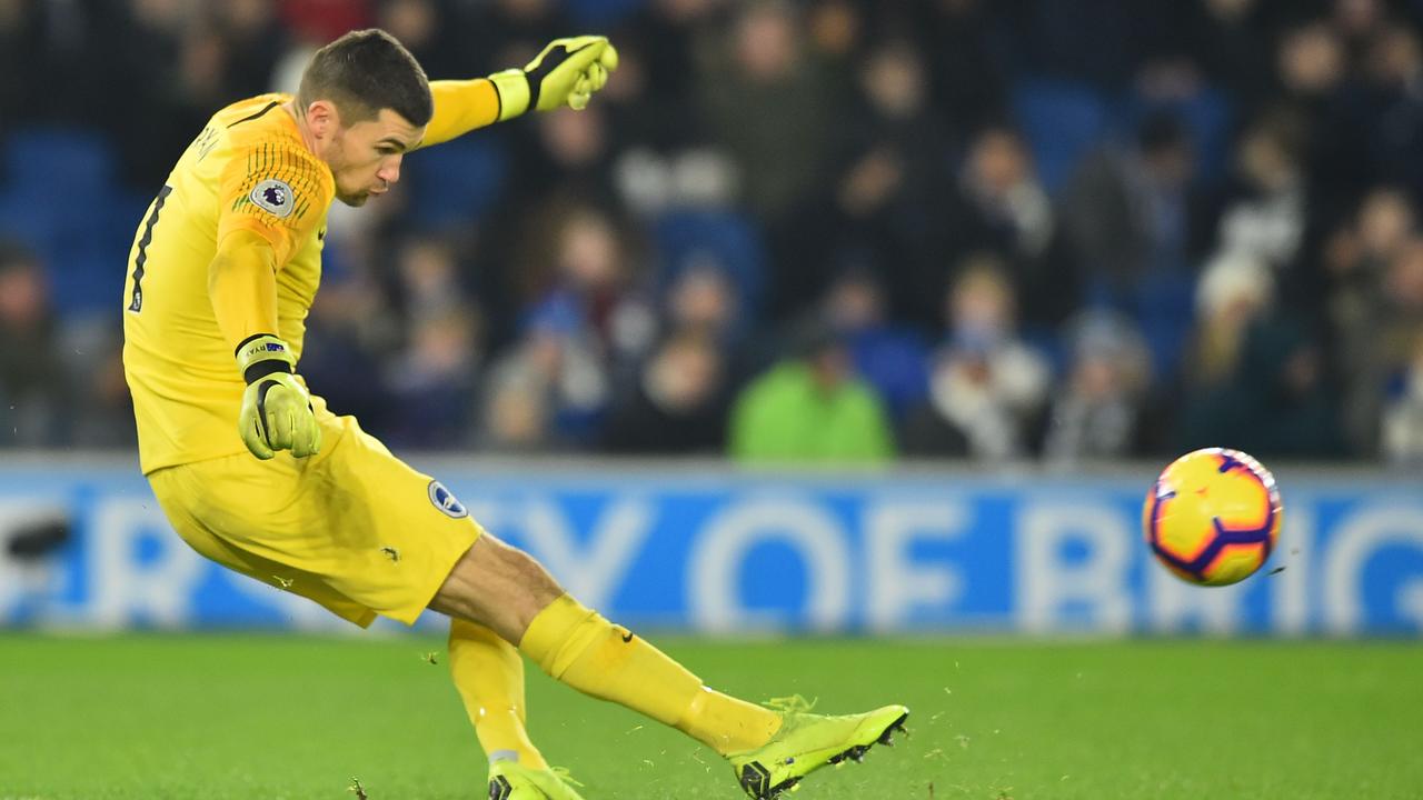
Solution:
[{"label": "green grass pitch below the blue advertising board", "polygon": [[[663,645],[746,698],[912,709],[909,739],[797,800],[1423,797],[1413,642]],[[536,670],[529,707],[588,800],[740,797],[710,752]],[[349,800],[353,777],[370,800],[484,797],[443,642],[0,636],[0,800]]]}]

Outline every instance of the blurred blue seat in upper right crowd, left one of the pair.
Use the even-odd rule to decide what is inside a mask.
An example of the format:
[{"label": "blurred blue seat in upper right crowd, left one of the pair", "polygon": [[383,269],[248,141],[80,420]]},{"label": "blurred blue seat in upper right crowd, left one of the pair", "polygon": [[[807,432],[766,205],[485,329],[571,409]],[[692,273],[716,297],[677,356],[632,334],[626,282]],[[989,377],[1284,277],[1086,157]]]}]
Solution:
[{"label": "blurred blue seat in upper right crowd, left one of the pair", "polygon": [[1107,101],[1086,84],[1026,80],[1013,87],[1013,111],[1050,194],[1111,132]]}]

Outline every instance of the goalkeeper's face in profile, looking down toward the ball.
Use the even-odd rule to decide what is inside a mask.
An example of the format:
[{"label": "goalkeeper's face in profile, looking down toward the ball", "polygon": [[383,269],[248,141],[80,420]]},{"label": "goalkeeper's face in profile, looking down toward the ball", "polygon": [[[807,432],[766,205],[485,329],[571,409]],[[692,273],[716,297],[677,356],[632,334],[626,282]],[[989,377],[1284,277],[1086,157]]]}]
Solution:
[{"label": "goalkeeper's face in profile, looking down toward the ball", "polygon": [[400,179],[400,162],[424,138],[425,128],[383,108],[374,120],[337,130],[327,164],[336,178],[336,199],[364,205]]}]

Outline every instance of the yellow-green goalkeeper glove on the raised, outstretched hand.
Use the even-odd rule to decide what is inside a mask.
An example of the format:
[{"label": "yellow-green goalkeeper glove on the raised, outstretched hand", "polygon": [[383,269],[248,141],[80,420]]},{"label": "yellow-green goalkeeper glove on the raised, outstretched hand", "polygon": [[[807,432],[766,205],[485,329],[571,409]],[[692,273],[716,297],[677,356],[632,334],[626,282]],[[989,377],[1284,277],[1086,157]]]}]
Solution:
[{"label": "yellow-green goalkeeper glove on the raised, outstretched hand", "polygon": [[490,75],[499,93],[499,121],[529,108],[552,111],[568,105],[582,111],[616,68],[618,50],[605,36],[555,38],[522,70]]}]

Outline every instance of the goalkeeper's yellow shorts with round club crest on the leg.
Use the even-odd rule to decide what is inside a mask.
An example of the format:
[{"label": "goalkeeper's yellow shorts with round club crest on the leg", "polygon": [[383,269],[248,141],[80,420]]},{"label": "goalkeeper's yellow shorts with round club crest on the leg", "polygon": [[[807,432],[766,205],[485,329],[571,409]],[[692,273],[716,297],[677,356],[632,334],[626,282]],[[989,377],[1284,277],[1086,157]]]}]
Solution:
[{"label": "goalkeeper's yellow shorts with round club crest on the leg", "polygon": [[323,446],[310,458],[243,453],[148,481],[178,535],[212,561],[363,628],[377,614],[410,625],[484,531],[354,417],[319,420]]}]

